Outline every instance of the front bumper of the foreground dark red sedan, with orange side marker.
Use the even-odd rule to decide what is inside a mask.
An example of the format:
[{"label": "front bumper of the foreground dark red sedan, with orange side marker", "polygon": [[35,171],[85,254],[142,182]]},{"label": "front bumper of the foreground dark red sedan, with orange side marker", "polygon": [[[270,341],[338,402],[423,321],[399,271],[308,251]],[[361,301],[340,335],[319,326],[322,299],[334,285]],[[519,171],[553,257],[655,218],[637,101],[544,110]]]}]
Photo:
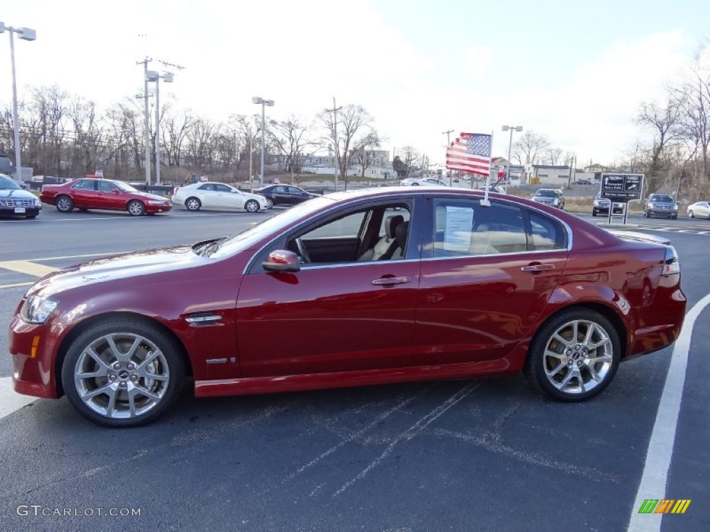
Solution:
[{"label": "front bumper of the foreground dark red sedan, with orange side marker", "polygon": [[58,326],[26,323],[18,316],[13,318],[9,349],[15,392],[44,399],[59,397],[55,353],[66,332]]}]

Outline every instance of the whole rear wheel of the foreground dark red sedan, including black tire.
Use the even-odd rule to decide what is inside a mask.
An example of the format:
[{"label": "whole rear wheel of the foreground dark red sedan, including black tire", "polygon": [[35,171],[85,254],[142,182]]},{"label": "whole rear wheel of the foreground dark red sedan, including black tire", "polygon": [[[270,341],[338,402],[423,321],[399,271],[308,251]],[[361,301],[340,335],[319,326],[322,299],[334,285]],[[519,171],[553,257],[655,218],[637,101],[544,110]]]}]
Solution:
[{"label": "whole rear wheel of the foreground dark red sedan, including black tire", "polygon": [[[572,323],[575,322],[578,327],[577,338],[572,341]],[[594,350],[587,350],[584,345],[584,336],[590,326],[594,327],[593,336],[590,337],[591,340],[596,340],[593,343],[608,340],[605,345],[599,345]],[[559,343],[555,339],[555,333],[565,340],[570,340],[569,345],[564,346]],[[551,351],[559,354],[559,358],[545,355],[548,346]],[[589,363],[590,360],[599,357],[605,360]],[[612,323],[596,311],[582,308],[569,309],[552,316],[537,331],[528,350],[525,374],[537,388],[558,401],[586,401],[601,393],[611,383],[620,361],[621,341]],[[554,365],[555,362],[559,364]],[[550,376],[548,371],[551,372]],[[570,373],[572,375],[569,376],[567,384],[564,384],[564,379]],[[596,382],[592,375],[601,377],[601,381]],[[573,379],[577,387],[572,387]],[[588,388],[590,384],[593,385]]]}]

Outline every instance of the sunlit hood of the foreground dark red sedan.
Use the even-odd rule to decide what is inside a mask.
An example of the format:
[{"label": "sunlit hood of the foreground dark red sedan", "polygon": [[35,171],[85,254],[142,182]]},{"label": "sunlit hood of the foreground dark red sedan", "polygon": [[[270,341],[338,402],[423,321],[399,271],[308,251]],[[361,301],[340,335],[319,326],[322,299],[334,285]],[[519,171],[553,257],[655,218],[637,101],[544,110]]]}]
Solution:
[{"label": "sunlit hood of the foreground dark red sedan", "polygon": [[[203,243],[209,242],[212,240]],[[197,255],[192,250],[199,244],[123,253],[82,262],[82,264],[45,275],[33,284],[27,295],[37,294],[48,297],[67,289],[89,284],[173,272],[204,265],[210,259]]]}]

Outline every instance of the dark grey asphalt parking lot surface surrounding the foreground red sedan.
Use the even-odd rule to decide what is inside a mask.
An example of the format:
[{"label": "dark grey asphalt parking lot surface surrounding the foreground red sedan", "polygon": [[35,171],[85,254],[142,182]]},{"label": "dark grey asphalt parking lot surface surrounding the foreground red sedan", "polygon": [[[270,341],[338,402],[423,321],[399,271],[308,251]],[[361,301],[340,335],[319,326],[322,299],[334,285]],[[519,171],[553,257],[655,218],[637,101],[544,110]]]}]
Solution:
[{"label": "dark grey asphalt parking lot surface surrounding the foreground red sedan", "polygon": [[[45,206],[0,221],[0,382],[6,326],[42,267],[227,235],[271,214]],[[672,240],[689,310],[710,294],[709,221],[630,223]],[[677,421],[665,492],[638,493],[665,475],[647,450],[672,349],[624,363],[584,404],[550,401],[522,376],[200,400],[186,388],[156,423],[116,431],[66,399],[11,408],[0,392],[0,530],[708,530],[710,313],[687,334],[680,410],[660,417],[661,429]],[[637,497],[692,502],[661,521],[639,516]]]}]

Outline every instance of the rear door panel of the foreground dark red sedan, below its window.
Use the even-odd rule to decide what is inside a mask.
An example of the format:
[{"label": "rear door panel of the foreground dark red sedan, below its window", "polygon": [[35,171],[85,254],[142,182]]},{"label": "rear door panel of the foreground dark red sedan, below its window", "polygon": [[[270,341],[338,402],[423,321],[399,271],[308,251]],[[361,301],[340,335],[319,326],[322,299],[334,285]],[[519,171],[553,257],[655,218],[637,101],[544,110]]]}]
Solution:
[{"label": "rear door panel of the foreground dark red sedan, below its window", "polygon": [[[566,262],[566,250],[422,261],[413,364],[508,355],[542,312]],[[538,264],[540,271],[523,270]]]}]

